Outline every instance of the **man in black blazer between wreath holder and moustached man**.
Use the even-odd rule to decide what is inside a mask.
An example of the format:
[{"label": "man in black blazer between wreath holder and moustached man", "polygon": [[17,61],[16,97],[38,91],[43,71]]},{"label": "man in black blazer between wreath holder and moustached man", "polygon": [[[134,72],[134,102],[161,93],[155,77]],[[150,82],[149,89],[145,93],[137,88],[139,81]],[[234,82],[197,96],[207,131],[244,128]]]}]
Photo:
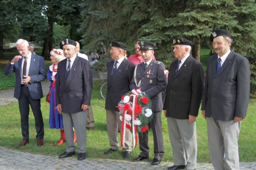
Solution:
[{"label": "man in black blazer between wreath holder and moustached man", "polygon": [[168,169],[196,169],[196,118],[203,94],[203,65],[190,54],[191,41],[176,38],[173,45],[178,60],[170,65],[163,105],[174,162]]}]

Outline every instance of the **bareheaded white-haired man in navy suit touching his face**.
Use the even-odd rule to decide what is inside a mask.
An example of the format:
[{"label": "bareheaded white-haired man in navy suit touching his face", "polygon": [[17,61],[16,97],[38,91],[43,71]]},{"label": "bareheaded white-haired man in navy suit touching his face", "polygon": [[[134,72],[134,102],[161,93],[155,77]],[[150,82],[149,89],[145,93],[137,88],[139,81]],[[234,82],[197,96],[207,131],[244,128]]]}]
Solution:
[{"label": "bareheaded white-haired man in navy suit touching his face", "polygon": [[14,97],[19,101],[22,142],[18,147],[29,143],[29,105],[35,117],[37,146],[44,145],[44,122],[41,112],[43,90],[41,81],[46,79],[44,58],[29,51],[29,43],[24,39],[16,42],[20,55],[15,56],[4,68],[4,74],[15,72]]}]

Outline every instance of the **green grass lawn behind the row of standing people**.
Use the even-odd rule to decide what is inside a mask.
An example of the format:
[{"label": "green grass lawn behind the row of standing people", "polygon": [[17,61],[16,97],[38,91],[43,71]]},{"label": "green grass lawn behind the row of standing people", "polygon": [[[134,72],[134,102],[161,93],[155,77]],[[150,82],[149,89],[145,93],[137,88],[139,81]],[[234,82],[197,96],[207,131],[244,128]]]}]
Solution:
[{"label": "green grass lawn behind the row of standing people", "polygon": [[[204,54],[201,52],[201,61],[207,62],[209,57],[209,52],[207,50]],[[207,58],[207,59],[203,59]],[[5,76],[3,75],[3,68],[8,60],[0,60],[0,90],[4,89],[3,86],[10,84],[9,87],[14,87],[15,76]],[[49,61],[46,61],[46,65],[50,65]],[[203,64],[206,65],[206,64]],[[14,79],[14,80],[11,80]],[[8,82],[7,82],[8,81]],[[123,151],[120,148],[119,152],[114,152],[110,155],[104,155],[103,152],[107,151],[109,146],[109,140],[106,130],[106,116],[105,116],[105,100],[101,99],[99,96],[99,87],[101,82],[93,82],[93,93],[91,105],[93,106],[93,114],[95,119],[95,130],[87,131],[87,157],[90,158],[108,158],[108,159],[123,159]],[[6,88],[5,88],[6,89]],[[44,155],[55,155],[62,154],[66,150],[66,143],[57,146],[56,142],[59,141],[60,131],[56,129],[49,128],[49,104],[45,101],[45,97],[41,100],[41,110],[44,118],[44,146],[38,147],[36,145],[36,131],[35,131],[35,120],[33,113],[30,110],[29,115],[29,132],[30,132],[30,143],[22,148],[18,148],[17,145],[22,140],[21,128],[20,128],[20,112],[18,103],[13,103],[5,106],[0,106],[2,110],[0,112],[0,146],[7,148],[12,148],[24,152],[30,152],[34,154],[44,154]],[[255,135],[255,118],[256,110],[256,98],[251,98],[248,106],[247,116],[245,120],[242,121],[242,128],[239,135],[239,157],[241,162],[255,162],[256,161],[256,135]],[[85,122],[86,123],[86,122]],[[208,151],[208,141],[207,141],[207,127],[206,120],[203,119],[201,111],[199,111],[199,116],[197,117],[197,162],[208,162],[209,161],[209,151]],[[168,127],[166,118],[162,114],[162,131],[164,137],[164,148],[165,155],[163,161],[171,161],[172,159],[172,148],[169,141]],[[119,133],[120,140],[120,133]],[[150,146],[150,159],[151,161],[154,157],[153,151],[153,135],[152,131],[149,130],[149,146]],[[76,144],[77,146],[77,144]],[[128,160],[132,160],[137,157],[140,153],[139,145],[132,151],[131,156]]]}]

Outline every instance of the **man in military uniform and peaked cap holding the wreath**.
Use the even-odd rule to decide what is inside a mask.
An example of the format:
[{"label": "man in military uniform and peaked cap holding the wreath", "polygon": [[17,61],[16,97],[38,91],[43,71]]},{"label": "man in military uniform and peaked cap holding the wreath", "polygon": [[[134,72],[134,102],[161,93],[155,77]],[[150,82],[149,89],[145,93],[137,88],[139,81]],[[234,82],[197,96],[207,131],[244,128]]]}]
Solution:
[{"label": "man in military uniform and peaked cap holding the wreath", "polygon": [[[136,66],[135,77],[133,77],[130,84],[130,89],[141,88],[141,91],[147,94],[152,101],[152,111],[154,114],[151,122],[154,139],[154,159],[152,160],[152,164],[157,165],[161,162],[164,155],[163,134],[161,129],[161,111],[163,110],[161,92],[166,88],[167,77],[164,64],[152,59],[156,45],[152,42],[141,41],[139,42],[139,46],[144,62]],[[139,149],[141,153],[136,159],[133,159],[135,162],[148,159],[148,131],[139,133]]]}]

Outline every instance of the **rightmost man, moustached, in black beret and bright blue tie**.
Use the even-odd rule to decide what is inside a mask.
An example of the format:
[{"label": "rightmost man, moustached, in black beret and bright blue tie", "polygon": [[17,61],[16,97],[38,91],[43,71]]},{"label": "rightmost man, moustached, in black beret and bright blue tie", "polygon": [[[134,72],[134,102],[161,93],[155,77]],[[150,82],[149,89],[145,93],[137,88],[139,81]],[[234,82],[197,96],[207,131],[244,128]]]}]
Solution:
[{"label": "rightmost man, moustached, in black beret and bright blue tie", "polygon": [[210,160],[214,169],[238,170],[238,135],[250,97],[248,60],[231,48],[224,29],[211,36],[215,55],[207,62],[202,115],[207,121]]}]

